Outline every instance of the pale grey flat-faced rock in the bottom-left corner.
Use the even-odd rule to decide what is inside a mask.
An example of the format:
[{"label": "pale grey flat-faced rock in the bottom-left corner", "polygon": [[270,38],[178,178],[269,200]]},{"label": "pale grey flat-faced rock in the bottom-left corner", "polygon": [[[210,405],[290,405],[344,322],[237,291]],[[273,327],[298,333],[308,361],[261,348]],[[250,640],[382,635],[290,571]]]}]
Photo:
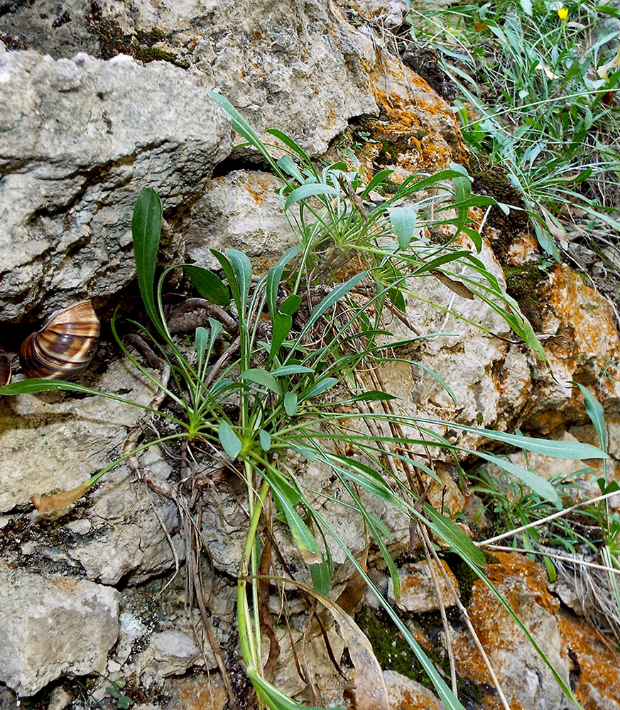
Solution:
[{"label": "pale grey flat-faced rock in the bottom-left corner", "polygon": [[0,568],[0,677],[33,695],[63,674],[101,672],[119,633],[119,592]]}]

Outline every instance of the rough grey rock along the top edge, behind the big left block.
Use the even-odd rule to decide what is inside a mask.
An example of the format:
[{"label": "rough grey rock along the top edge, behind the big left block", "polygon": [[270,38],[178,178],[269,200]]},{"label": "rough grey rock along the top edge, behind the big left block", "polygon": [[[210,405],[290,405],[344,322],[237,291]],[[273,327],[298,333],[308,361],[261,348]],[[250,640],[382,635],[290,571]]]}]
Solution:
[{"label": "rough grey rock along the top edge, behind the big left block", "polygon": [[[68,0],[62,11],[35,0],[0,17],[0,32],[54,57],[86,50],[105,59],[125,53],[191,65],[255,129],[278,127],[315,155],[349,117],[376,112],[364,72],[375,61],[371,36],[324,0],[227,0],[208,7]],[[151,105],[167,104],[162,97]],[[196,107],[195,120],[207,115]]]}]

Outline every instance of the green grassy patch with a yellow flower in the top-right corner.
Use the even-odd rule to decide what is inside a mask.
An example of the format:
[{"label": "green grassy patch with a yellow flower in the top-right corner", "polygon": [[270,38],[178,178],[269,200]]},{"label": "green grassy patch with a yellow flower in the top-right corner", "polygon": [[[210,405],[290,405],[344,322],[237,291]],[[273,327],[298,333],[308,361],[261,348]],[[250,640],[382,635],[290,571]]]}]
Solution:
[{"label": "green grassy patch with a yellow flower in the top-right corner", "polygon": [[[506,168],[543,252],[560,259],[568,233],[602,252],[620,233],[617,17],[607,4],[469,4],[425,15],[410,38],[436,48],[457,87],[464,140]],[[408,43],[404,37],[403,42]],[[577,223],[577,227],[575,227]]]}]

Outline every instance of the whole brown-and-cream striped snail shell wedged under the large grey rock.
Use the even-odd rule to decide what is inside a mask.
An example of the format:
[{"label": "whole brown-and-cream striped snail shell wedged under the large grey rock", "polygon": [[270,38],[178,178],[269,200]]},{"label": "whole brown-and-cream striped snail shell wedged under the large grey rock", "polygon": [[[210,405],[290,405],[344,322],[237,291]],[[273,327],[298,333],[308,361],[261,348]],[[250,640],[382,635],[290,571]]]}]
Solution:
[{"label": "whole brown-and-cream striped snail shell wedged under the large grey rock", "polygon": [[19,348],[24,376],[46,380],[75,377],[94,357],[100,330],[90,301],[56,311]]}]

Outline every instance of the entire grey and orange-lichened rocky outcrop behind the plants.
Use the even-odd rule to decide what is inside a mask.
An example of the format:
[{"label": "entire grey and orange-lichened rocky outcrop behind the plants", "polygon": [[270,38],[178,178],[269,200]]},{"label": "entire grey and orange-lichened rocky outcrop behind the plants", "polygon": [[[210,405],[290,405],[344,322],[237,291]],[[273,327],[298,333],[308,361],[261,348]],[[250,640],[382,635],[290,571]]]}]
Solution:
[{"label": "entire grey and orange-lichened rocky outcrop behind the plants", "polygon": [[[0,32],[9,48],[19,38],[31,50],[0,54],[0,102],[8,107],[0,116],[0,325],[33,321],[74,297],[93,297],[96,308],[116,303],[134,282],[131,209],[146,185],[156,188],[164,203],[166,263],[187,259],[217,267],[210,248],[233,247],[243,249],[255,270],[263,272],[295,243],[298,237],[281,210],[276,178],[261,169],[250,151],[226,160],[230,123],[208,97],[209,88],[221,90],[263,136],[266,127],[277,127],[311,156],[327,150],[326,160],[345,159],[366,180],[381,168],[393,169],[391,177],[401,181],[410,173],[432,173],[452,161],[466,161],[452,107],[374,31],[379,21],[384,28],[398,27],[405,11],[401,1],[377,0],[344,9],[322,0],[234,5],[225,0],[208,7],[184,0],[10,4],[0,15]],[[82,53],[76,55],[78,49]],[[482,216],[482,210],[472,210],[472,224]],[[430,234],[438,241],[446,235]],[[596,384],[597,394],[606,398],[607,414],[617,414],[620,340],[611,309],[570,269],[556,267],[549,276],[543,274],[532,262],[536,247],[531,244],[521,262],[518,249],[511,252],[511,267],[523,267],[527,283],[533,284],[529,291],[519,290],[523,274],[504,269],[507,262],[500,263],[499,250],[491,248],[491,228],[482,239],[479,259],[486,269],[502,283],[508,277],[508,288],[523,310],[538,316],[535,328],[547,336],[543,345],[553,372],[516,342],[501,313],[479,298],[455,294],[436,274],[426,273],[412,281],[407,296],[406,320],[415,331],[396,316],[388,326],[395,338],[410,339],[415,332],[428,337],[403,346],[398,353],[402,361],[379,370],[381,386],[398,394],[398,407],[408,414],[497,429],[555,430],[554,436],[567,436],[567,441],[571,435],[562,427],[577,425],[572,436],[597,443],[591,429],[582,426],[580,394],[570,382]],[[352,265],[344,264],[343,278]],[[529,279],[528,269],[535,279]],[[152,382],[136,377],[111,347],[105,346],[104,354],[80,382],[148,404],[155,392]],[[429,370],[447,383],[456,403]],[[0,401],[0,510],[7,514],[0,518],[5,542],[0,606],[9,610],[0,623],[0,679],[23,695],[63,674],[106,672],[113,680],[131,678],[141,693],[161,692],[164,686],[169,690],[165,701],[147,697],[153,703],[145,701],[144,710],[222,707],[226,694],[214,673],[217,654],[205,635],[196,633],[204,618],[197,612],[187,615],[185,582],[175,574],[188,554],[184,536],[185,542],[192,541],[189,554],[208,552],[209,564],[195,569],[190,583],[200,576],[220,655],[241,684],[232,633],[232,579],[248,515],[234,475],[205,475],[194,485],[176,449],[153,449],[142,454],[143,466],[192,500],[200,510],[195,521],[183,505],[149,491],[124,466],[59,520],[29,512],[33,493],[72,488],[119,456],[127,431],[137,422],[138,410],[98,397],[57,392]],[[475,448],[481,441],[473,434],[441,431],[451,443]],[[387,426],[384,433],[389,434]],[[409,433],[418,438],[414,428]],[[615,458],[617,448],[614,443],[610,449]],[[421,447],[420,453],[426,455]],[[454,517],[466,510],[467,495],[457,485],[452,454],[433,456],[440,483],[429,488],[428,500]],[[515,461],[527,463],[523,457]],[[542,458],[528,461],[543,472]],[[330,470],[293,455],[288,466],[311,489],[308,496],[317,510],[357,558],[368,554],[371,576],[408,615],[415,638],[437,663],[445,662],[444,632],[422,628],[420,622],[424,615],[432,625],[429,620],[439,608],[428,565],[401,565],[397,600],[379,554],[368,550],[364,522],[333,505],[335,499],[346,500],[346,492]],[[393,552],[410,552],[409,520],[380,498],[364,500]],[[281,558],[273,564],[282,572],[288,565],[298,581],[310,584],[307,566],[283,530],[274,521],[270,542],[278,545]],[[598,702],[605,710],[617,710],[614,657],[595,642],[583,642],[582,622],[560,608],[538,567],[498,559],[501,564],[491,564],[489,574],[540,636],[562,678],[575,685],[584,705]],[[5,562],[10,563],[7,569]],[[332,562],[335,592],[355,606],[361,592],[349,586],[352,564],[336,548]],[[447,564],[442,565],[457,586]],[[471,598],[472,623],[513,710],[565,706],[550,670],[491,593],[480,581],[470,586],[459,586],[459,592],[463,600]],[[161,590],[162,596],[156,596]],[[276,677],[290,692],[301,692],[304,684],[288,661],[298,648],[312,647],[304,662],[335,687],[324,699],[333,697],[345,706],[357,702],[352,701],[355,672],[342,680],[330,658],[320,654],[318,634],[305,643],[305,603],[292,585],[285,591],[271,588],[267,601],[261,601],[277,618],[286,596],[293,619],[290,628],[279,619],[274,626],[282,649]],[[440,592],[452,607],[445,583]],[[451,608],[459,682],[474,688],[475,702],[491,709],[496,694],[455,613]],[[381,627],[384,640],[387,628]],[[327,629],[326,636],[340,657],[343,645],[334,629]],[[388,652],[380,658],[384,667],[393,667],[386,679],[394,706],[439,710],[421,674],[401,674],[413,667],[410,656],[396,668],[398,643],[396,636],[389,637]],[[602,666],[599,679],[596,669]],[[106,683],[99,684],[99,693]]]}]

